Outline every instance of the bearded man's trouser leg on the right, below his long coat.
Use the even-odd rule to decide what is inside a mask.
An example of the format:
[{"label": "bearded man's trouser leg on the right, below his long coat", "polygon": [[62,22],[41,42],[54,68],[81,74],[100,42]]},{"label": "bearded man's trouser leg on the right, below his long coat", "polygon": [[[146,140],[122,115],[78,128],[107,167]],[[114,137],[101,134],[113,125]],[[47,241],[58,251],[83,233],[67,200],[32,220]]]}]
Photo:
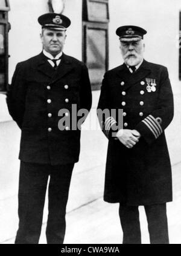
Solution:
[{"label": "bearded man's trouser leg on the right, below his long coat", "polygon": [[151,244],[168,244],[168,223],[166,203],[145,206]]}]

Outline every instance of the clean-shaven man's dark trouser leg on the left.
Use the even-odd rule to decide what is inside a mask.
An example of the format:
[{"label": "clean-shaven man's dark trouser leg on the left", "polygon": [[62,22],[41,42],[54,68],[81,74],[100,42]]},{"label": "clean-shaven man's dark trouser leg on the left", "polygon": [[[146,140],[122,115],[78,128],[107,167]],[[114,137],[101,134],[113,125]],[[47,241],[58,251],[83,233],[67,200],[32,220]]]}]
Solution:
[{"label": "clean-shaven man's dark trouser leg on the left", "polygon": [[47,181],[45,165],[21,162],[16,244],[39,243]]}]

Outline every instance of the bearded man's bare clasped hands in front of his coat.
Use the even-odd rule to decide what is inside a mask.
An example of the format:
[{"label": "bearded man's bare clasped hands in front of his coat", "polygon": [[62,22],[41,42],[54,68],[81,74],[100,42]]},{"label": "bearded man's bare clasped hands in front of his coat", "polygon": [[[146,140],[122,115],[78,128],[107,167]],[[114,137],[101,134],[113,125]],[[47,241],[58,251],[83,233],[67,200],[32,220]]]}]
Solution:
[{"label": "bearded man's bare clasped hands in front of his coat", "polygon": [[136,130],[119,130],[116,137],[127,148],[133,148],[139,142],[141,134]]}]

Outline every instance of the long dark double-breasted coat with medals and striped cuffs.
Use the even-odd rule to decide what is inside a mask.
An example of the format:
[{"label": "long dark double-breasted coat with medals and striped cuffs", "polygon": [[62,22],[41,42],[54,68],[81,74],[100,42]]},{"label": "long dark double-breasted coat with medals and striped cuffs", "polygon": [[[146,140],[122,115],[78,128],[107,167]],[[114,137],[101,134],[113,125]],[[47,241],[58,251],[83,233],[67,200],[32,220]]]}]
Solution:
[{"label": "long dark double-breasted coat with medals and striped cuffs", "polygon": [[125,64],[108,71],[98,108],[122,109],[123,128],[141,134],[129,149],[112,137],[118,116],[100,119],[109,139],[104,200],[122,205],[171,201],[171,165],[164,130],[174,111],[167,68],[144,61],[133,74]]}]

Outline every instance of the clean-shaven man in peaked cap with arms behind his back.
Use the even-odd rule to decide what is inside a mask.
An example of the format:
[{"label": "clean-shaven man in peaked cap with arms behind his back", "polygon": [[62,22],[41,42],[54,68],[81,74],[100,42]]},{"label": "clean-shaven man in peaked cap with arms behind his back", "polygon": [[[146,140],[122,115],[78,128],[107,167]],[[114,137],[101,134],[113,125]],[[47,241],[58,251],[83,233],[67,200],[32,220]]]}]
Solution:
[{"label": "clean-shaven man in peaked cap with arms behind his back", "polygon": [[[92,94],[86,66],[63,53],[71,21],[57,13],[38,19],[43,51],[16,66],[8,109],[21,128],[19,159],[19,229],[16,244],[39,243],[45,192],[48,186],[46,240],[62,244],[65,214],[74,163],[80,153],[80,130],[62,129],[59,111],[72,123],[72,105],[90,110]],[[62,117],[62,118],[63,118]]]}]

